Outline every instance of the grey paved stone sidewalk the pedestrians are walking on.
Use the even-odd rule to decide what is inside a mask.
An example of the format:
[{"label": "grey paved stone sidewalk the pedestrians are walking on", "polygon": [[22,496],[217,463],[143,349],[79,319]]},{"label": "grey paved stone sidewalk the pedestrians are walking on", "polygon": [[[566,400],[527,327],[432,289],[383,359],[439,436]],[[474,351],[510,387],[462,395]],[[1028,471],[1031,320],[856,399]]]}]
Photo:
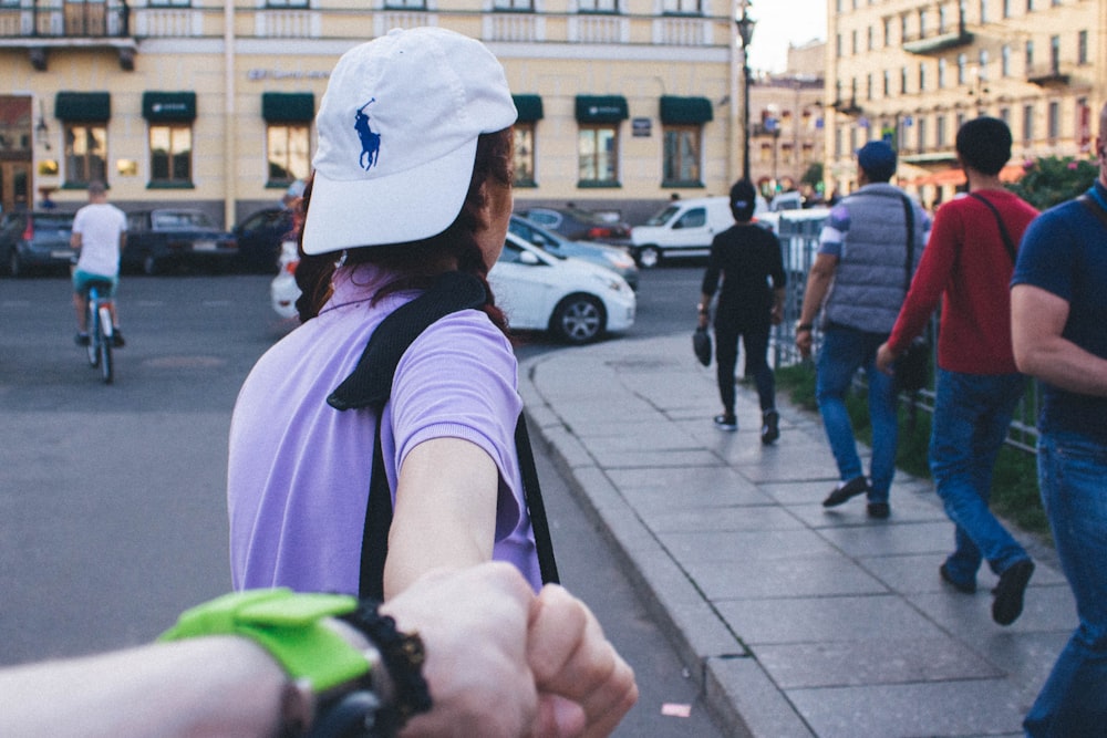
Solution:
[{"label": "grey paved stone sidewalk the pedestrians are walking on", "polygon": [[[736,434],[691,335],[610,341],[524,362],[546,443],[624,555],[735,736],[1021,736],[1076,612],[1052,551],[1022,616],[991,619],[939,580],[953,528],[929,481],[899,474],[892,516],[863,498],[825,510],[837,481],[817,416],[782,407],[763,447],[756,395]],[[555,539],[557,530],[554,531]],[[659,706],[660,709],[660,706]]]}]

